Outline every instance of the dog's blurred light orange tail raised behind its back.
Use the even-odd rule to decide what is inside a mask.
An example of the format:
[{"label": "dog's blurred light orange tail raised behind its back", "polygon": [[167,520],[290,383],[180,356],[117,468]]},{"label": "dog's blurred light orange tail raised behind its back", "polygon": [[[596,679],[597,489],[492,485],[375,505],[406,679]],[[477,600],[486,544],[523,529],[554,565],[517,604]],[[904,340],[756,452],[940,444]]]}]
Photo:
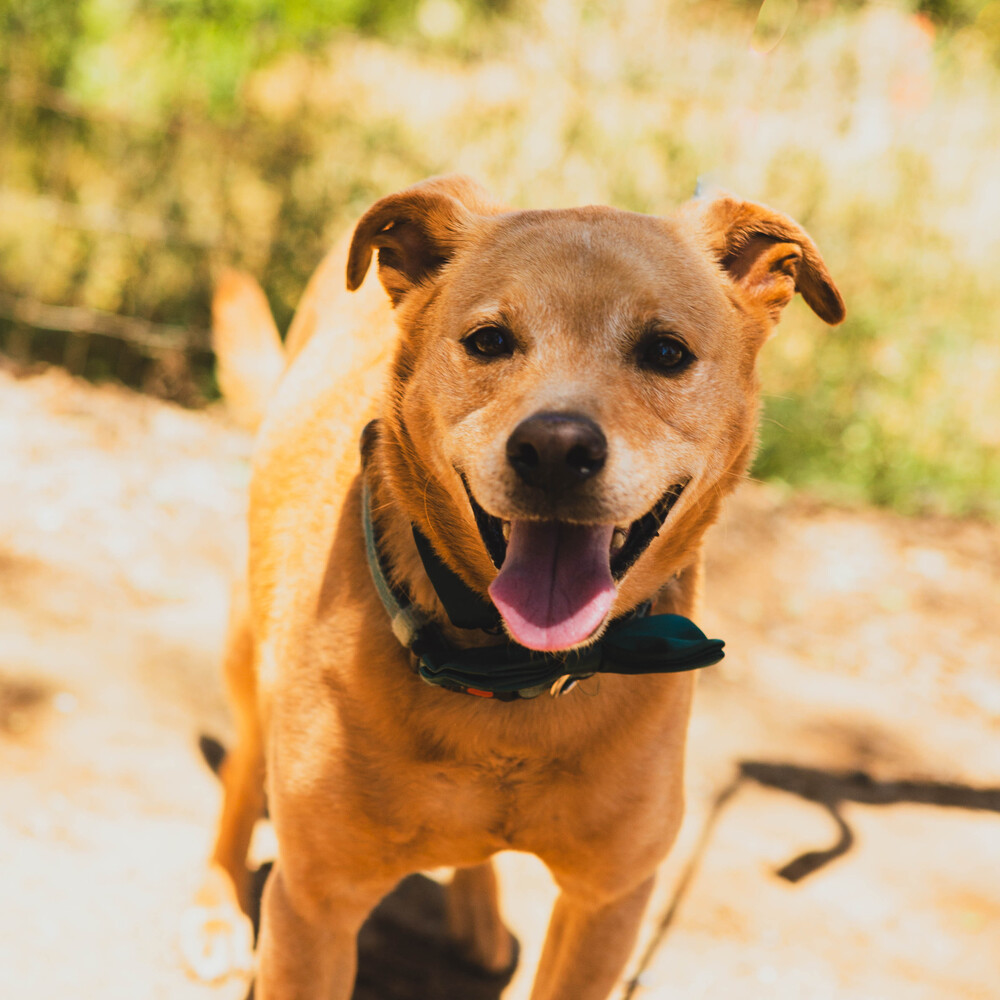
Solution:
[{"label": "dog's blurred light orange tail raised behind its back", "polygon": [[264,292],[243,271],[224,271],[215,286],[212,349],[233,418],[256,430],[285,370],[285,352]]}]

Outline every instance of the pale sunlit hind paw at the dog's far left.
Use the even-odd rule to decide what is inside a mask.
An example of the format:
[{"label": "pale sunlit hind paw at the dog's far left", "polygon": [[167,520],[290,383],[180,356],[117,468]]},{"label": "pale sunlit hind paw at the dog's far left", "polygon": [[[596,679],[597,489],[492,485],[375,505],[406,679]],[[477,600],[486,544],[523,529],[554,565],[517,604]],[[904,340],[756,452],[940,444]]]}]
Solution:
[{"label": "pale sunlit hind paw at the dog's far left", "polygon": [[181,915],[180,948],[188,973],[205,983],[253,971],[253,924],[211,872],[193,906]]}]

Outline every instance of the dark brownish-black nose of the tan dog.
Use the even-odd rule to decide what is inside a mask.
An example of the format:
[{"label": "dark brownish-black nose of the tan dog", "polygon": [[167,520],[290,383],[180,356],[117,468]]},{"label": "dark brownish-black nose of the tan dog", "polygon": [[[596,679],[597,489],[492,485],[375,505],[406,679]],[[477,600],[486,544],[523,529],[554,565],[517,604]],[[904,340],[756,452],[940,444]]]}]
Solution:
[{"label": "dark brownish-black nose of the tan dog", "polygon": [[547,493],[597,475],[607,457],[601,428],[576,413],[536,413],[507,439],[507,461],[524,482]]}]

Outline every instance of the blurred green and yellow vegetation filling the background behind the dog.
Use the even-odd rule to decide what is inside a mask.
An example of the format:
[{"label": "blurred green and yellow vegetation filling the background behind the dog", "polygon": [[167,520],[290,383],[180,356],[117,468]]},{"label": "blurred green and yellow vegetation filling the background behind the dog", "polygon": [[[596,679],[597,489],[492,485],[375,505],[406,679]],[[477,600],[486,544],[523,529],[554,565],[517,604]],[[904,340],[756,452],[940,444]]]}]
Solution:
[{"label": "blurred green and yellow vegetation filling the background behind the dog", "polygon": [[[659,212],[707,176],[802,222],[848,303],[832,331],[796,303],[768,345],[755,475],[996,517],[1000,0],[759,7],[0,0],[0,292],[203,331],[235,263],[284,324],[336,234],[421,177]],[[0,343],[213,391],[199,350],[9,320]]]}]

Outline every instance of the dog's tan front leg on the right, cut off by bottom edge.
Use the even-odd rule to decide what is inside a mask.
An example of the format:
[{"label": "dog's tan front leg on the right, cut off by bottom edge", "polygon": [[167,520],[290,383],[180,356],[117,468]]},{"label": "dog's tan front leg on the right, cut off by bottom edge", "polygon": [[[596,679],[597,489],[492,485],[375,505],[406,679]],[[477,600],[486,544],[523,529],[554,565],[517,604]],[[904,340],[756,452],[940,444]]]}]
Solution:
[{"label": "dog's tan front leg on the right, cut off by bottom edge", "polygon": [[652,888],[650,876],[610,902],[564,889],[549,921],[531,1000],[605,1000],[628,961]]}]

